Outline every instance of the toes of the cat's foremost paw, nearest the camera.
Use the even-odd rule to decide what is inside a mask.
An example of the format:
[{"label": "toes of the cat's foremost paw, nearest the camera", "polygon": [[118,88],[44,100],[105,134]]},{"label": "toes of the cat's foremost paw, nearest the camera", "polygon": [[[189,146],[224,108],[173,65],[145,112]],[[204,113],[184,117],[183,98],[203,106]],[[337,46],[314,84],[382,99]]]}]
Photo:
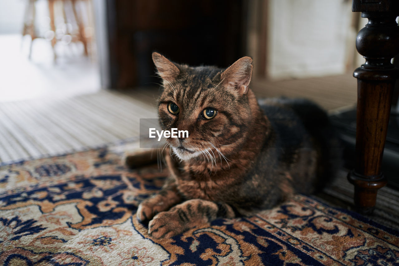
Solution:
[{"label": "toes of the cat's foremost paw, nearest the camera", "polygon": [[160,212],[148,224],[148,234],[153,238],[169,238],[184,231],[184,225],[173,213]]}]

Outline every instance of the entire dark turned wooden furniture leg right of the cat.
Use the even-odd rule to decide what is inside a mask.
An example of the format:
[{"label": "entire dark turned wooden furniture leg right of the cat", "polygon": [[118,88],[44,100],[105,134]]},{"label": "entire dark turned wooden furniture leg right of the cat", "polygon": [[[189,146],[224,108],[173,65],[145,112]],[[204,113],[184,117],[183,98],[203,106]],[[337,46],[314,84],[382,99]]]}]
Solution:
[{"label": "entire dark turned wooden furniture leg right of the cat", "polygon": [[353,75],[358,79],[356,166],[348,175],[355,186],[355,205],[369,214],[377,191],[387,184],[381,161],[387,135],[391,98],[399,69],[391,58],[399,53],[397,0],[353,0],[352,11],[362,12],[369,22],[356,38],[356,49],[366,62]]}]

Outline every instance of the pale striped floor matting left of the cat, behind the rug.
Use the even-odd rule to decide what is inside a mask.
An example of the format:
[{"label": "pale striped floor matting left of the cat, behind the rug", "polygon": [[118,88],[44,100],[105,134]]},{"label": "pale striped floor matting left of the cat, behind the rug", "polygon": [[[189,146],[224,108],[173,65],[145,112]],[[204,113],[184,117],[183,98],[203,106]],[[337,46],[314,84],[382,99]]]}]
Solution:
[{"label": "pale striped floor matting left of the cat, behind the rug", "polygon": [[99,147],[139,136],[156,118],[156,96],[112,91],[71,98],[0,103],[0,164]]}]

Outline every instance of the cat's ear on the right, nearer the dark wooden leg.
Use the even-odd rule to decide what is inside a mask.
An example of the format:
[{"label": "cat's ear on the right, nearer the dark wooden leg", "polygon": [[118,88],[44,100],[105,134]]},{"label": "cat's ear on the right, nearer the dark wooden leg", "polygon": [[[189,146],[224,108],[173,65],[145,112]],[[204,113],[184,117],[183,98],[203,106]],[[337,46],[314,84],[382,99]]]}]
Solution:
[{"label": "cat's ear on the right, nearer the dark wooden leg", "polygon": [[223,71],[221,79],[225,87],[243,95],[248,92],[251,75],[252,58],[245,56]]}]

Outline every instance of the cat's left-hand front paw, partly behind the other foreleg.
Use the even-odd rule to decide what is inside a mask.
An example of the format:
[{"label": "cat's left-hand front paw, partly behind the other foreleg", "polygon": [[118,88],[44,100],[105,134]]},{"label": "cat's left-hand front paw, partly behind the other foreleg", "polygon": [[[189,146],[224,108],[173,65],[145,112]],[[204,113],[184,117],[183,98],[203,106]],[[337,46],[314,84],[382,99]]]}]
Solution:
[{"label": "cat's left-hand front paw, partly behind the other foreleg", "polygon": [[176,193],[174,185],[164,187],[151,198],[143,200],[137,209],[137,220],[140,222],[151,220],[154,215],[180,203],[182,198]]}]

